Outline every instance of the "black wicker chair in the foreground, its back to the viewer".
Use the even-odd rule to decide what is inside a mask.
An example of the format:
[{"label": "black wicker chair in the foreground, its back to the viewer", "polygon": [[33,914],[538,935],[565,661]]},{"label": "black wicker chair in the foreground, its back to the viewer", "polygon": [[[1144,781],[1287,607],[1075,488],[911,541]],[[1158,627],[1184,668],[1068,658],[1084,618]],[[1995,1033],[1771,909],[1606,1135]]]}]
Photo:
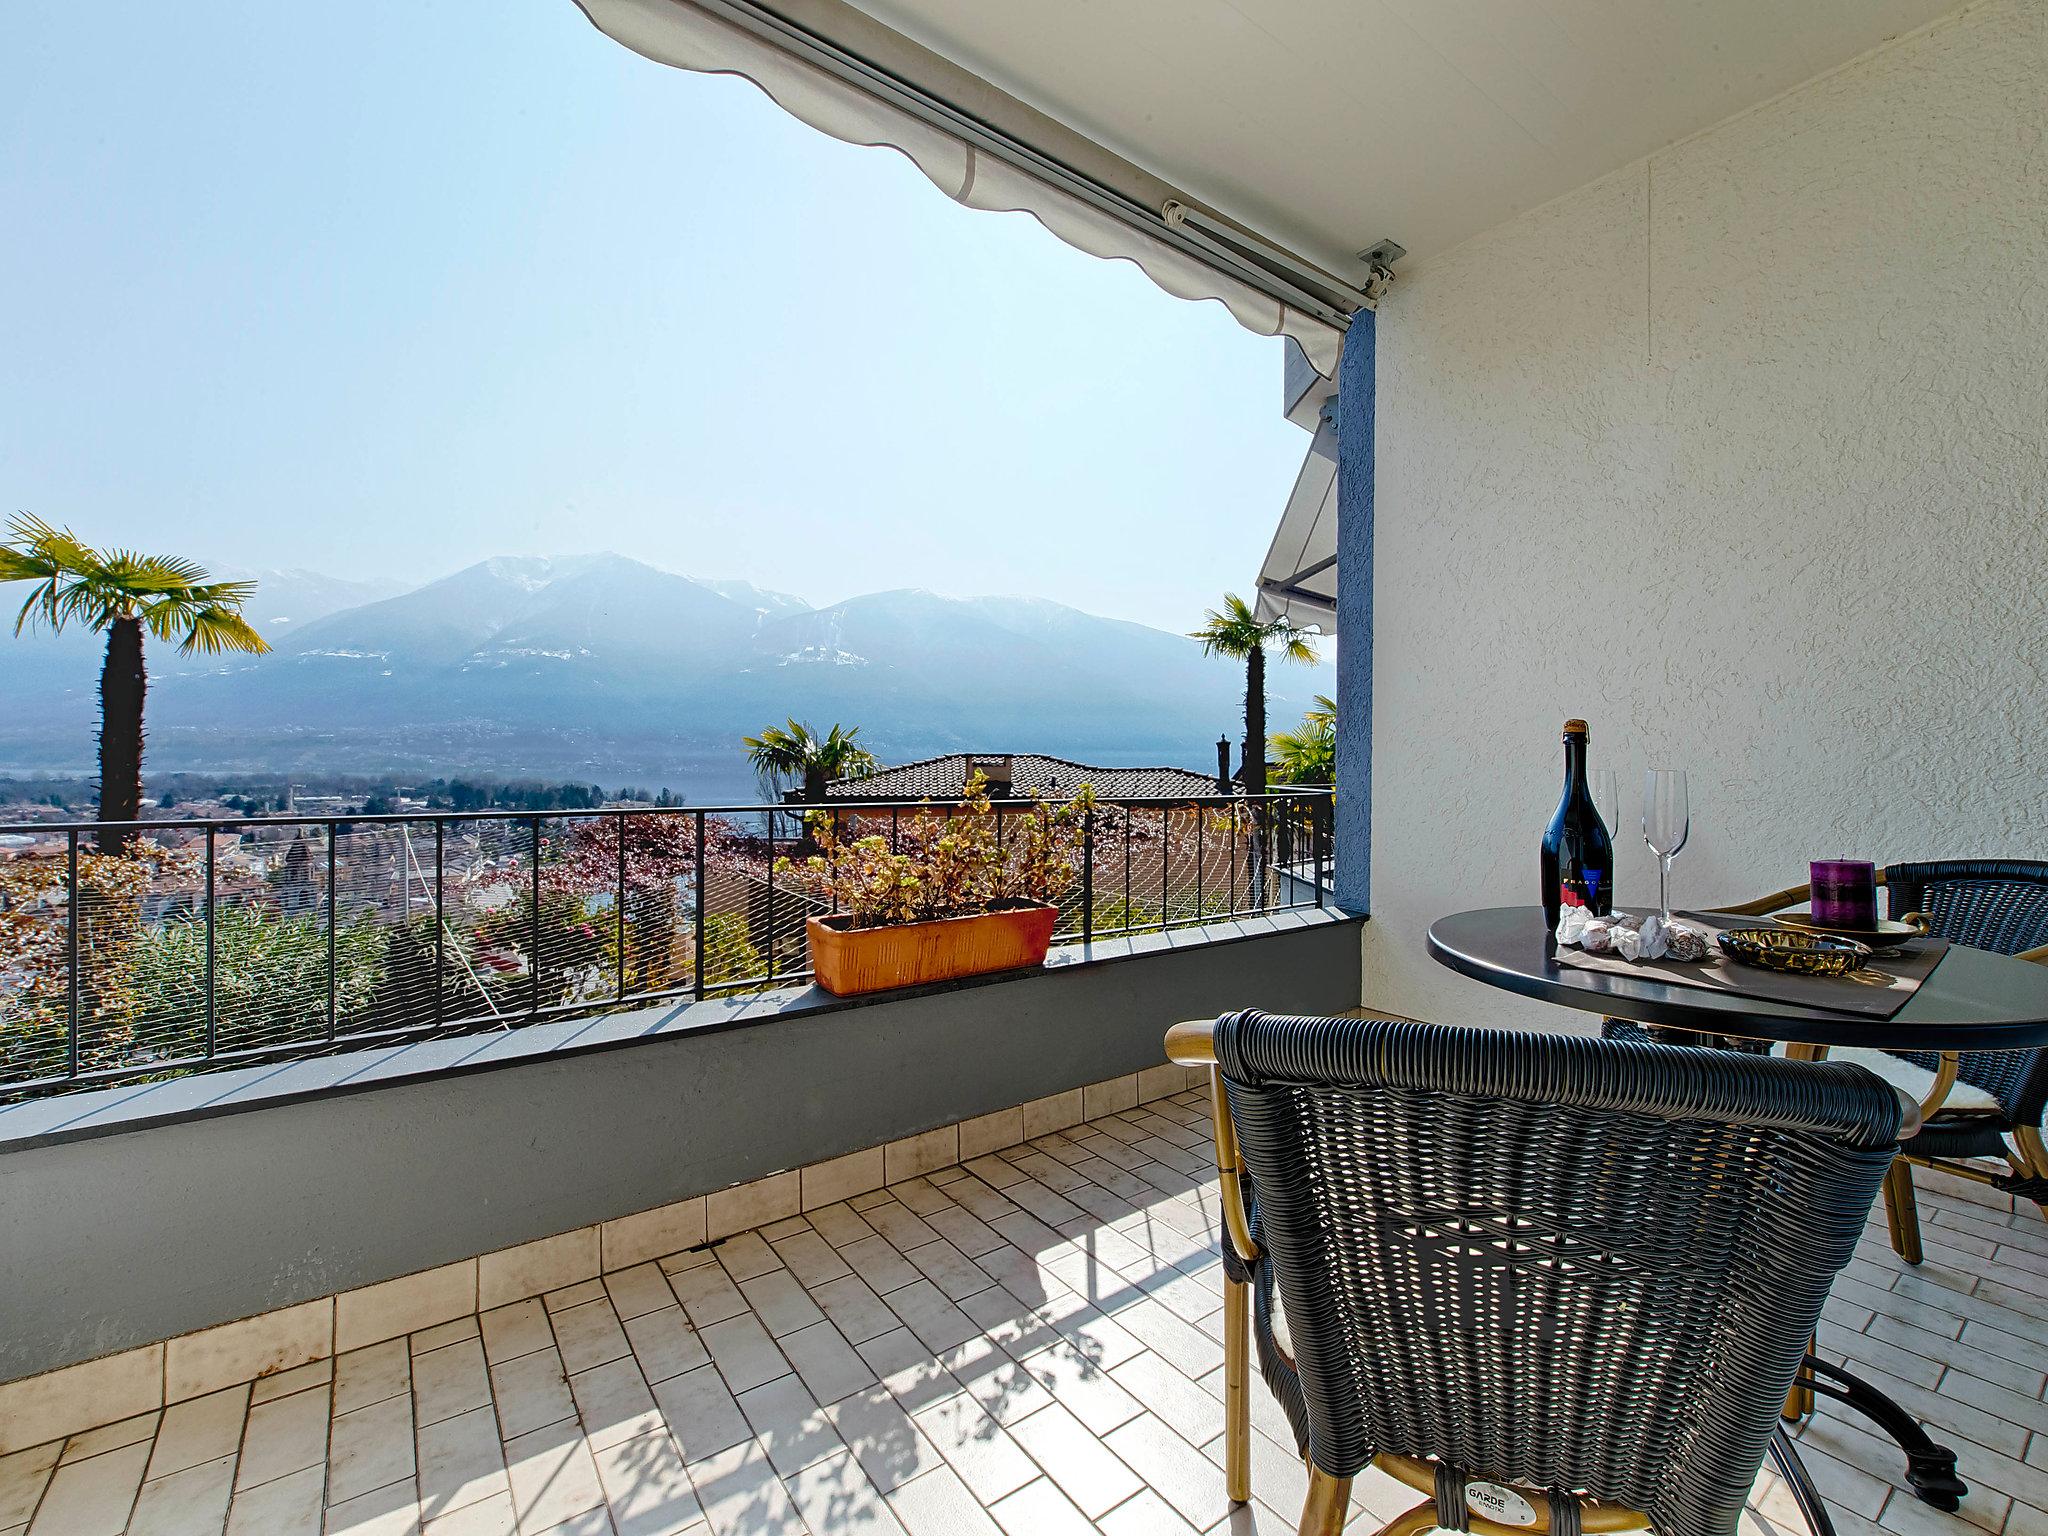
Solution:
[{"label": "black wicker chair in the foreground, its back to the viewer", "polygon": [[1432,1495],[1389,1536],[1729,1536],[1765,1452],[1812,1499],[1778,1415],[1917,1118],[1868,1071],[1255,1012],[1167,1055],[1212,1063],[1233,1501],[1253,1323],[1305,1534],[1372,1464]]}]

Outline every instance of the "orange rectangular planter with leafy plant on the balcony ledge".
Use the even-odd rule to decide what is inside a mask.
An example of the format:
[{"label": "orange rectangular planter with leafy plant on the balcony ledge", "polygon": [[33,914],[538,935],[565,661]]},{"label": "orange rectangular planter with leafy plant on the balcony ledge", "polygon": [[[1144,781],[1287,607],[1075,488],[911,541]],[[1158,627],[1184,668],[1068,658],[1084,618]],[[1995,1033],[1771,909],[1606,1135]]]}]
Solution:
[{"label": "orange rectangular planter with leafy plant on the balcony ledge", "polygon": [[901,817],[895,848],[881,834],[846,838],[829,815],[813,817],[821,852],[776,860],[776,874],[838,907],[807,920],[817,985],[846,997],[1042,965],[1094,803],[1083,784],[1063,805],[1006,813],[997,836],[997,811],[975,774],[958,809],[926,803]]}]

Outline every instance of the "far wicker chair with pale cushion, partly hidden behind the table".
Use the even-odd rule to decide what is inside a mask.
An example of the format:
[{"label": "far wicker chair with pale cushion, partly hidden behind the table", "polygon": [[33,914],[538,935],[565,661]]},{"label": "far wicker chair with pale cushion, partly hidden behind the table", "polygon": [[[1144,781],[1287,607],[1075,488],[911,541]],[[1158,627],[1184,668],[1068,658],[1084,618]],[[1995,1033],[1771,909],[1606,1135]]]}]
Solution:
[{"label": "far wicker chair with pale cushion, partly hidden behind the table", "polygon": [[[2017,858],[1888,864],[1878,872],[1878,883],[1884,887],[1886,911],[1892,918],[1921,915],[1931,932],[1952,944],[2048,965],[2048,864]],[[1765,915],[1808,895],[1808,887],[1794,885],[1726,911]],[[1901,1149],[1901,1161],[1884,1184],[1892,1249],[1903,1260],[1921,1262],[1913,1163],[2023,1194],[2048,1210],[2048,1147],[2042,1145],[2048,1053],[1882,1053],[1919,1069],[1917,1077],[1901,1075],[1876,1059],[1878,1055],[1835,1053],[1837,1059],[1862,1061],[1892,1085],[1907,1087],[1923,1100],[1925,1126]],[[2011,1174],[1989,1174],[1964,1161],[1987,1157],[2003,1159]]]}]

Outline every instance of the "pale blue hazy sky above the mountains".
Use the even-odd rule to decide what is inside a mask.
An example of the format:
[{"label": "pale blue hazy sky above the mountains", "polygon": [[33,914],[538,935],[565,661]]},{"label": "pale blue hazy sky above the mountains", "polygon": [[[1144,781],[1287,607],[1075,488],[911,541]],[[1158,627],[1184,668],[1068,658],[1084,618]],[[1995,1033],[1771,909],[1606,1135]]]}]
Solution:
[{"label": "pale blue hazy sky above the mountains", "polygon": [[0,512],[426,580],[616,549],[1186,629],[1280,342],[571,0],[0,6]]}]

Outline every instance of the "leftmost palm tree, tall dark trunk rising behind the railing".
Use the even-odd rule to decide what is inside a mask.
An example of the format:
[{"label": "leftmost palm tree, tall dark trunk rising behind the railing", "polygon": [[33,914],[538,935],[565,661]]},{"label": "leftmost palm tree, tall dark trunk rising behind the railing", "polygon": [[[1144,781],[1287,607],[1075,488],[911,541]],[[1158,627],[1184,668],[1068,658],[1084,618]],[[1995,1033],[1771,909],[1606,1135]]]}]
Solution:
[{"label": "leftmost palm tree, tall dark trunk rising behind the railing", "polygon": [[[254,582],[209,582],[188,559],[137,555],[129,549],[88,549],[70,528],[18,514],[0,545],[0,582],[35,582],[14,618],[14,633],[29,625],[61,631],[70,623],[106,633],[100,668],[100,821],[141,815],[141,705],[147,676],[141,662],[143,631],[178,641],[182,655],[270,647],[242,616]],[[100,831],[100,852],[117,854],[133,831]]]}]

